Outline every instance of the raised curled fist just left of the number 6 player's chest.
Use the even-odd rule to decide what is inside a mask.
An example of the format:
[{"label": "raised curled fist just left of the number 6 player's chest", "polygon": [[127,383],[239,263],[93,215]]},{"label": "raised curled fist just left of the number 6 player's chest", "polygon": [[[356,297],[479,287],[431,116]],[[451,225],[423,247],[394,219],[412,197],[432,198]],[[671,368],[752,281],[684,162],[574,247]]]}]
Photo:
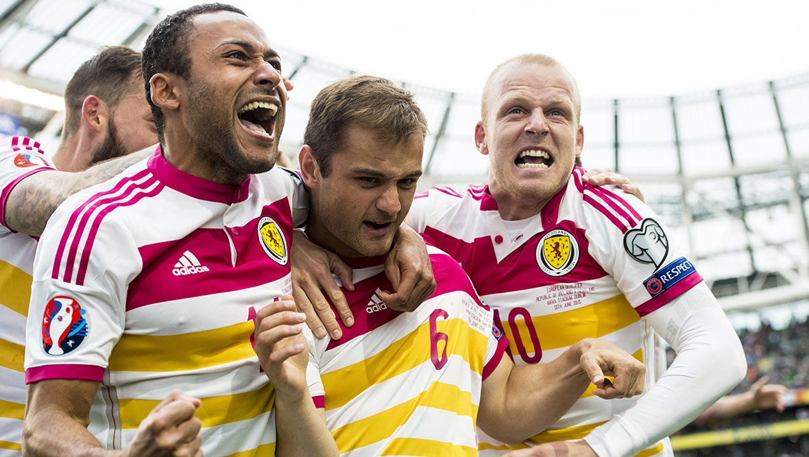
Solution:
[{"label": "raised curled fist just left of the number 6 player's chest", "polygon": [[309,360],[303,321],[292,296],[285,295],[256,313],[256,354],[278,395],[301,395],[307,391]]}]

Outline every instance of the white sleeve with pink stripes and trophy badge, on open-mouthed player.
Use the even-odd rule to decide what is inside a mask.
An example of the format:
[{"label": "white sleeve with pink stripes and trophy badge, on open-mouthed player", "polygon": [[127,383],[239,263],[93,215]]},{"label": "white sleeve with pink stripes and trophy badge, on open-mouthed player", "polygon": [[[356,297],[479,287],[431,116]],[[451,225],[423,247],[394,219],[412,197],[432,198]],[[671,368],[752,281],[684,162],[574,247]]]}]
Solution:
[{"label": "white sleeve with pink stripes and trophy badge, on open-mouthed player", "polygon": [[83,199],[54,213],[37,250],[26,328],[26,382],[101,381],[125,326],[140,256],[125,221],[82,224]]}]

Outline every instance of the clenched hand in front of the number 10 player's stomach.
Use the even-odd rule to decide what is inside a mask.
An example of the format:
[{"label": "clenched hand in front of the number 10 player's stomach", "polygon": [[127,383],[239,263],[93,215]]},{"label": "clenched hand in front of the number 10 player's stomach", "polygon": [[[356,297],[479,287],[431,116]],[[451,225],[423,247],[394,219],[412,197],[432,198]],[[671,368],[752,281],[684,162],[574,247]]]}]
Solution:
[{"label": "clenched hand in front of the number 10 player's stomach", "polygon": [[[577,344],[582,348],[579,362],[597,387],[593,395],[617,399],[643,392],[646,366],[628,352],[597,338],[585,338]],[[612,381],[605,376],[612,376]]]}]

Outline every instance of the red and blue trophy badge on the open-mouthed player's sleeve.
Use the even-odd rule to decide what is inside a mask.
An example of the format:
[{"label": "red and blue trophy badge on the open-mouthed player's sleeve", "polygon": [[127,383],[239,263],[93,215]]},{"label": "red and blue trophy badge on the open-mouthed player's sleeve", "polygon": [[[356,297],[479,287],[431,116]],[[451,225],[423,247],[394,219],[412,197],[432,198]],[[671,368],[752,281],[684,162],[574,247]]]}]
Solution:
[{"label": "red and blue trophy badge on the open-mouthed player's sleeve", "polygon": [[70,297],[53,297],[42,317],[42,348],[52,356],[61,356],[82,344],[90,327],[87,312]]}]

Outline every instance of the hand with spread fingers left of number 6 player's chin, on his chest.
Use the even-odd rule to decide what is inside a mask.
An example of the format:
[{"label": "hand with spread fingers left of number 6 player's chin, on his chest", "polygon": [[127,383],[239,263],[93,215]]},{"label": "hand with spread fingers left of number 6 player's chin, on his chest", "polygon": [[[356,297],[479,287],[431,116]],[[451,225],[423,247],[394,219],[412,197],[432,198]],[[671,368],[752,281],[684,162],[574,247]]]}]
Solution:
[{"label": "hand with spread fingers left of number 6 player's chin, on his chest", "polygon": [[[340,314],[345,327],[354,325],[354,315],[349,310],[345,295],[332,277],[332,272],[340,278],[346,290],[354,290],[351,267],[345,264],[337,254],[324,250],[309,241],[298,230],[292,235],[290,250],[290,266],[292,267],[292,295],[298,310],[307,316],[307,325],[318,338],[323,338],[328,330],[332,339],[339,340],[343,332],[332,312],[332,307],[323,295],[326,291],[331,297],[337,313]],[[325,327],[325,329],[324,329]]]}]

